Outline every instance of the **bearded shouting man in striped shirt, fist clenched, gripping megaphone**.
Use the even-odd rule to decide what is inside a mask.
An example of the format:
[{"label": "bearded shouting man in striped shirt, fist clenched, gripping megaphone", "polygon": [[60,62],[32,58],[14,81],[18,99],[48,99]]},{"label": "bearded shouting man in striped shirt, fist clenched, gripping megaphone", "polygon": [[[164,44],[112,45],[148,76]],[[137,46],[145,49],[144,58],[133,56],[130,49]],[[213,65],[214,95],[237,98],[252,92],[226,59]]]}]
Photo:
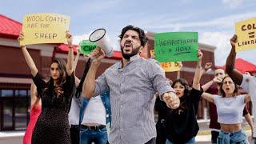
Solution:
[{"label": "bearded shouting man in striped shirt, fist clenched, gripping megaphone", "polygon": [[122,61],[110,66],[96,80],[95,74],[106,54],[100,48],[91,53],[92,62],[83,83],[83,94],[91,98],[110,91],[111,144],[154,143],[154,94],[158,92],[173,109],[178,108],[179,98],[158,62],[139,56],[147,42],[144,30],[129,25],[122,29],[119,38]]}]

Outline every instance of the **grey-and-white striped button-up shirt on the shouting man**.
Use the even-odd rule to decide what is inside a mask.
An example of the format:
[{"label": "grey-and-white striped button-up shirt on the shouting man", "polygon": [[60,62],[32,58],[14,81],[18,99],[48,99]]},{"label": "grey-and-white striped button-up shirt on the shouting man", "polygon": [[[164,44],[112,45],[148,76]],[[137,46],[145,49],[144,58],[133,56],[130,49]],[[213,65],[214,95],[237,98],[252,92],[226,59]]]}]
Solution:
[{"label": "grey-and-white striped button-up shirt on the shouting man", "polygon": [[96,80],[94,94],[110,90],[112,144],[142,144],[156,137],[154,94],[174,91],[162,68],[153,59],[135,55],[122,68],[122,62],[110,66]]}]

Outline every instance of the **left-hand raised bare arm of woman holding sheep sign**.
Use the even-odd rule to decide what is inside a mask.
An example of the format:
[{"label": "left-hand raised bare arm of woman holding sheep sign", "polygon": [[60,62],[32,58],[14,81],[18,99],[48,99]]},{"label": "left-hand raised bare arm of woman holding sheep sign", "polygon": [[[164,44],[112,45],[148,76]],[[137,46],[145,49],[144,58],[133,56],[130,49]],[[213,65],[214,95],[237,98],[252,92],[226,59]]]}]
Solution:
[{"label": "left-hand raised bare arm of woman holding sheep sign", "polygon": [[[19,34],[18,37],[18,42],[22,41],[24,39],[24,34],[21,33]],[[35,77],[36,74],[38,74],[38,68],[37,66],[35,66],[33,58],[31,58],[30,53],[28,52],[28,50],[26,50],[26,46],[21,46],[22,47],[22,54],[26,60],[26,64],[27,66],[30,67],[31,70],[31,74],[33,75],[33,77]]]}]

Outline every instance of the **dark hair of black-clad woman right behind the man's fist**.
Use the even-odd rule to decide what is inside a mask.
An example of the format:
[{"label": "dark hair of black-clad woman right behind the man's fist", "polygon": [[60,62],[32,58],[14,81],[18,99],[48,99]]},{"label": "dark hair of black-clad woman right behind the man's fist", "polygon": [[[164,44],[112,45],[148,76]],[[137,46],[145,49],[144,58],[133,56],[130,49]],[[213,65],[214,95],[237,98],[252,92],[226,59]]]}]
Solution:
[{"label": "dark hair of black-clad woman right behind the man's fist", "polygon": [[180,84],[182,84],[182,86],[185,87],[185,90],[184,90],[184,95],[179,98],[180,99],[180,106],[178,107],[178,109],[175,109],[174,111],[178,111],[178,110],[185,110],[187,109],[187,106],[186,106],[186,97],[187,95],[190,94],[190,86],[189,86],[189,83],[186,81],[186,79],[184,78],[178,78],[174,81],[174,83],[172,84],[172,87],[175,86],[175,84],[179,82]]}]

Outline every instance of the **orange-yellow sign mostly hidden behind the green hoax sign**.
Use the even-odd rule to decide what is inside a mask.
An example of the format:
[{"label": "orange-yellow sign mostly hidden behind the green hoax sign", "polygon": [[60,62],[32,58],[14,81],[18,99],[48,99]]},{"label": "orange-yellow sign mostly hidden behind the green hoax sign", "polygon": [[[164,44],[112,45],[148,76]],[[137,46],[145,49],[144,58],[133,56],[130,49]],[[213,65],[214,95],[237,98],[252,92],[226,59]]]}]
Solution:
[{"label": "orange-yellow sign mostly hidden behind the green hoax sign", "polygon": [[[154,58],[154,50],[150,50],[151,58]],[[165,72],[181,70],[179,62],[160,62],[160,66]]]}]

